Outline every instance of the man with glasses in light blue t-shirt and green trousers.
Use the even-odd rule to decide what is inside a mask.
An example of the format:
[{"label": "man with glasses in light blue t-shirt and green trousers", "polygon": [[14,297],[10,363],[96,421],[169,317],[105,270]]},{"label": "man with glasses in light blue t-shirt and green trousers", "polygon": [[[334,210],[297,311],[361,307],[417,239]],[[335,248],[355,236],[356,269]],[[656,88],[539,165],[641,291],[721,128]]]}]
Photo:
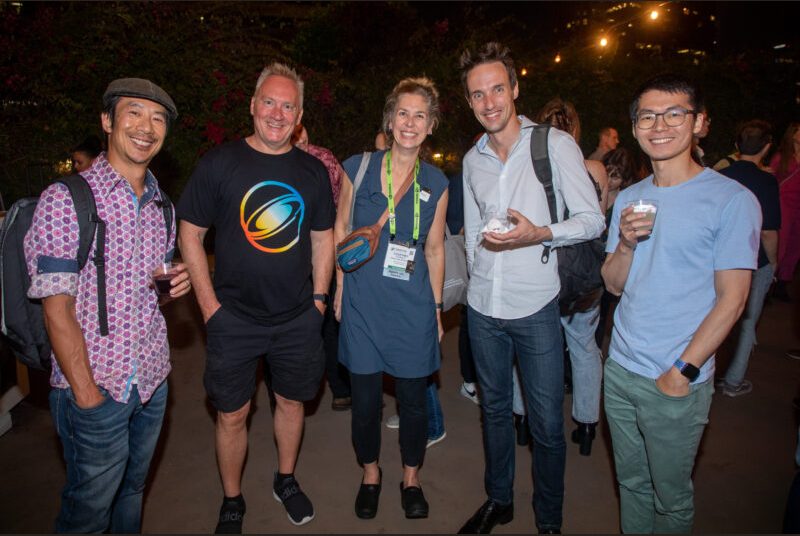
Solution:
[{"label": "man with glasses in light blue t-shirt and green trousers", "polygon": [[755,196],[692,160],[702,109],[698,90],[679,76],[637,91],[633,135],[653,175],[619,194],[609,226],[603,279],[621,299],[605,410],[626,533],[692,530],[691,475],[714,392],[714,352],[741,315],[757,266]]}]

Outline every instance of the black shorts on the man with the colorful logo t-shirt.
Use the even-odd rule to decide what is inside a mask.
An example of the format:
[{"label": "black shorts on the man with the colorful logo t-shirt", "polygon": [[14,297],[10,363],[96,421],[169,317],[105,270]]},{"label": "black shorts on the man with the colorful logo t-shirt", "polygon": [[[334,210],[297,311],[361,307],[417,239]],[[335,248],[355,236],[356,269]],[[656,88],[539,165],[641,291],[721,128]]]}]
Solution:
[{"label": "black shorts on the man with the colorful logo t-shirt", "polygon": [[206,324],[203,385],[214,407],[230,413],[253,398],[262,356],[266,356],[277,394],[296,401],[314,398],[325,370],[322,320],[312,306],[283,324],[261,326],[220,307]]}]

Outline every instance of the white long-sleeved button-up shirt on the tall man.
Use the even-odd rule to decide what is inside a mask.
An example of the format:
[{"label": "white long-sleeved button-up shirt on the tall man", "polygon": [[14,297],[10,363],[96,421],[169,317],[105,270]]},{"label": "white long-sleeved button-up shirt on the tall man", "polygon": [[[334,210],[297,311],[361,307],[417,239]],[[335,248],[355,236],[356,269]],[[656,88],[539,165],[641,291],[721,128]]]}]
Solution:
[{"label": "white long-sleeved button-up shirt on the tall man", "polygon": [[[552,223],[544,187],[533,171],[530,140],[534,123],[519,116],[520,136],[500,160],[488,145],[486,134],[464,157],[464,233],[470,272],[467,301],[479,313],[492,318],[530,316],[558,295],[558,261],[541,261],[544,246],[497,250],[483,242],[481,229],[486,214],[505,214],[512,208],[534,225],[553,233],[551,247],[566,246],[600,236],[605,218],[589,178],[578,144],[561,130],[550,129],[547,148],[553,171],[558,214],[564,204],[569,219]],[[489,246],[488,248],[486,246]]]}]

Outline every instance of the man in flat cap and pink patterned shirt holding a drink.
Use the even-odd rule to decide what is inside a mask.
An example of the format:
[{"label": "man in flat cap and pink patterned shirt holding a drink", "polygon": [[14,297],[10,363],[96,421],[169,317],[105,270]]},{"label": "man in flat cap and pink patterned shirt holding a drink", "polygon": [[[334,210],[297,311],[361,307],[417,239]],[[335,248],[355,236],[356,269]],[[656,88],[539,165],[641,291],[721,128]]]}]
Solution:
[{"label": "man in flat cap and pink patterned shirt holding a drink", "polygon": [[[50,408],[67,467],[56,532],[141,532],[170,371],[151,274],[171,260],[175,244],[171,204],[147,166],[177,115],[170,96],[149,80],[111,82],[100,116],[108,152],[81,172],[105,224],[97,225],[92,262],[79,269],[78,218],[64,184],[42,193],[25,236],[28,296],[43,303],[53,347]],[[162,303],[190,290],[185,267],[174,270]]]}]

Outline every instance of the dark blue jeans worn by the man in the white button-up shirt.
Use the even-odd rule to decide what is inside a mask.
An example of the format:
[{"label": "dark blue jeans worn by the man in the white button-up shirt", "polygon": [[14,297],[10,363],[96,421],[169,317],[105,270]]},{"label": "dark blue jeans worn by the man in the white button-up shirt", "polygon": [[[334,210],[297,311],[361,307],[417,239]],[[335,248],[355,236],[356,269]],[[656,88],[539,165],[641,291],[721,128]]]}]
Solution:
[{"label": "dark blue jeans worn by the man in the white button-up shirt", "polygon": [[558,303],[513,320],[469,311],[469,333],[481,386],[484,485],[490,499],[513,501],[514,425],[511,369],[516,354],[533,436],[536,525],[560,529],[564,502],[564,351]]}]

